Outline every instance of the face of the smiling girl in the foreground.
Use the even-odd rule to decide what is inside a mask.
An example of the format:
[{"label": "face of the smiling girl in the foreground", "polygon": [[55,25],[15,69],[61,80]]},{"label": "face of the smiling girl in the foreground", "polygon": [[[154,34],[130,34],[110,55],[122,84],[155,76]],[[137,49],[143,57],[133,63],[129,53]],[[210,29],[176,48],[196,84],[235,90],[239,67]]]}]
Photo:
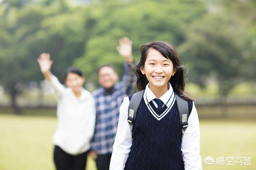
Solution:
[{"label": "face of the smiling girl in the foreground", "polygon": [[141,68],[142,74],[146,75],[149,81],[150,88],[154,89],[168,89],[168,81],[171,76],[174,76],[176,70],[173,69],[173,64],[170,59],[165,58],[162,54],[150,48],[144,64]]}]

